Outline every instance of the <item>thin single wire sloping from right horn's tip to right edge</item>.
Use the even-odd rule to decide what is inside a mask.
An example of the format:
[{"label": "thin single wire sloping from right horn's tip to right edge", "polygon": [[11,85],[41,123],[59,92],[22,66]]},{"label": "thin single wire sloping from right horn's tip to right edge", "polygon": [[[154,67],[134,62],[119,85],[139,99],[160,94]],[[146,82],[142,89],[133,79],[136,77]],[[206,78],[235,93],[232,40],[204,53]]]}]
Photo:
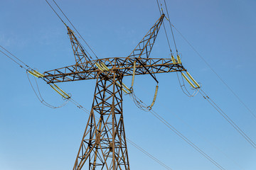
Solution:
[{"label": "thin single wire sloping from right horn's tip to right edge", "polygon": [[249,111],[249,113],[256,119],[255,113],[253,113],[252,110],[250,110],[250,108],[245,104],[245,102],[242,101],[242,99],[238,96],[238,94],[235,93],[235,91],[233,91],[233,89],[230,88],[230,86],[228,86],[228,84],[220,77],[220,75],[217,72],[215,72],[213,67],[211,67],[210,64],[206,62],[203,56],[198,52],[198,50],[196,50],[195,47],[193,47],[193,45],[191,45],[191,43],[184,37],[184,35],[178,30],[178,28],[176,28],[173,24],[171,24],[171,26],[175,28],[175,30],[181,35],[183,40],[185,40],[188,43],[188,45],[193,49],[194,52],[196,52],[196,54],[201,58],[201,60],[203,60],[203,62],[206,63],[206,65],[218,77],[218,79],[220,79],[220,81],[223,82],[223,84],[229,89],[229,91],[235,96],[235,98],[237,98],[238,101],[240,101],[240,103],[242,103],[242,105],[247,109],[247,111]]}]

